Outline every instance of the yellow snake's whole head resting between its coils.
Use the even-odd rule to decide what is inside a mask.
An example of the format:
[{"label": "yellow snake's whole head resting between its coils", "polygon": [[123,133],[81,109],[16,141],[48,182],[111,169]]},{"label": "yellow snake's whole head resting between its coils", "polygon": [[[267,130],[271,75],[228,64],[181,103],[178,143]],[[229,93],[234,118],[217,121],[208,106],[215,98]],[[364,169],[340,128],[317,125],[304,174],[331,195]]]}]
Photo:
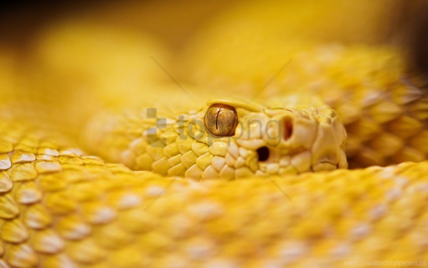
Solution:
[{"label": "yellow snake's whole head resting between its coils", "polygon": [[347,167],[346,132],[328,107],[268,108],[221,98],[191,112],[166,114],[97,120],[90,145],[134,170],[194,179]]}]

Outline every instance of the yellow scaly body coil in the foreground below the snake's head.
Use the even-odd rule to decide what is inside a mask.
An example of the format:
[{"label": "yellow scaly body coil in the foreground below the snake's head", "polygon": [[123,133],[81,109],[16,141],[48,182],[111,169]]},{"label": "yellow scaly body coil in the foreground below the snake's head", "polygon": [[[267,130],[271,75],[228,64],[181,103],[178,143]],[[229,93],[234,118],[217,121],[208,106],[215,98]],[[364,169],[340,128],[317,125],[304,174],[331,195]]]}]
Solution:
[{"label": "yellow scaly body coil in the foreground below the snake's head", "polygon": [[422,265],[428,258],[426,161],[195,182],[107,164],[22,122],[3,120],[0,128],[3,266]]}]

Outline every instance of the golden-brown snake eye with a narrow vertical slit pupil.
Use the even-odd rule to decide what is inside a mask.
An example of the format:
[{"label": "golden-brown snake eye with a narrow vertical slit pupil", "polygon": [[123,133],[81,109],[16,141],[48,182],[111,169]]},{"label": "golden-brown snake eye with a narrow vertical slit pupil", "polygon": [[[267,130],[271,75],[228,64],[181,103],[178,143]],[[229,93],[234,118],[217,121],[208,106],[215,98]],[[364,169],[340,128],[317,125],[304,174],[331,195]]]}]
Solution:
[{"label": "golden-brown snake eye with a narrow vertical slit pupil", "polygon": [[205,113],[205,127],[214,136],[233,136],[238,125],[238,114],[232,106],[212,104]]}]

